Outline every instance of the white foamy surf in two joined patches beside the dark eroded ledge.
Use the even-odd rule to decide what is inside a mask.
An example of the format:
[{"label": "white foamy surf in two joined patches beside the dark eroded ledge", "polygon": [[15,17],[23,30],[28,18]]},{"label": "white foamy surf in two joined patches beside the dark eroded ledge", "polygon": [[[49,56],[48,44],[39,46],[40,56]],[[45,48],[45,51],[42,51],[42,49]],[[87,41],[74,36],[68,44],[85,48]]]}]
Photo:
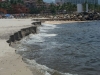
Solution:
[{"label": "white foamy surf in two joined patches beside the dark eroded ledge", "polygon": [[47,34],[45,32],[48,31],[48,29],[54,29],[56,25],[51,24],[43,24],[42,27],[39,27],[39,34],[30,34],[28,37],[25,37],[21,42],[23,44],[32,44],[32,43],[40,43],[45,41],[45,37],[54,37],[57,36],[57,34]]}]

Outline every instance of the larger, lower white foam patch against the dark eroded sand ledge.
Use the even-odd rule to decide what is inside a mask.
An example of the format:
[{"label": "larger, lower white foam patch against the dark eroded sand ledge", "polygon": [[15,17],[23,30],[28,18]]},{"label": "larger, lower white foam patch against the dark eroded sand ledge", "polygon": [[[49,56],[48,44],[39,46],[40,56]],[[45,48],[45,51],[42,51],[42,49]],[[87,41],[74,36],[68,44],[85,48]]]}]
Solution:
[{"label": "larger, lower white foam patch against the dark eroded sand ledge", "polygon": [[28,37],[25,37],[24,39],[22,39],[21,43],[22,44],[41,43],[45,41],[45,37],[51,38],[55,36],[57,36],[57,34],[46,34],[46,33],[30,34]]}]

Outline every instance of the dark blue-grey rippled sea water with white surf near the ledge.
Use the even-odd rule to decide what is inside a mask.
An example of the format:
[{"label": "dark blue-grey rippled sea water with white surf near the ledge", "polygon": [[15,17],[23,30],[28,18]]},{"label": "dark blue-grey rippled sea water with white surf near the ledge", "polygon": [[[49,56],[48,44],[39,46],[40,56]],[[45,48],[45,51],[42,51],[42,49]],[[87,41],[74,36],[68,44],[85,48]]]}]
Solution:
[{"label": "dark blue-grey rippled sea water with white surf near the ledge", "polygon": [[46,25],[23,41],[28,59],[63,73],[100,75],[100,21]]}]

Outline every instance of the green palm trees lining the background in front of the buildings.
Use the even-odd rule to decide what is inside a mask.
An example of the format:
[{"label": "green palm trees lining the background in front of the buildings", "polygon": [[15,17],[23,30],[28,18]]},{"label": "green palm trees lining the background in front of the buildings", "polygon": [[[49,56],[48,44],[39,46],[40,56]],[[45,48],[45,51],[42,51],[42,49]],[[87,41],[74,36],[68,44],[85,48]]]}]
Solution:
[{"label": "green palm trees lining the background in front of the buildings", "polygon": [[[12,10],[12,5],[26,5],[24,4],[23,0],[7,0],[6,2],[1,2],[0,3],[0,8],[4,8],[6,10]],[[41,5],[40,7],[36,7],[34,4],[28,7],[30,10],[30,14],[39,14],[39,13],[44,13],[48,12],[51,14],[60,14],[60,13],[73,13],[77,11],[77,5],[72,4],[72,3],[63,3],[63,4],[54,4],[50,3],[49,6],[47,7],[43,0],[37,0],[37,4]],[[98,4],[88,4],[89,10],[92,11],[98,11],[100,12],[100,5]],[[86,10],[86,3],[83,4],[83,10]]]}]

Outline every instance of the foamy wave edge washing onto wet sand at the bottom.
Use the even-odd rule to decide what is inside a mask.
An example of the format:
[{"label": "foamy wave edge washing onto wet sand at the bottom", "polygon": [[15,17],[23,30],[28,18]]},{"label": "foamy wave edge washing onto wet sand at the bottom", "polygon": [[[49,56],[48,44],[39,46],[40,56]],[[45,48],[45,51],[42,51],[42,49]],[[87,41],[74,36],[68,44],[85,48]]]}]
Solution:
[{"label": "foamy wave edge washing onto wet sand at the bottom", "polygon": [[23,58],[23,61],[29,65],[28,67],[33,72],[33,75],[77,75],[77,74],[70,74],[70,73],[61,73],[54,69],[48,68],[45,65],[38,64],[35,60],[29,60]]}]

